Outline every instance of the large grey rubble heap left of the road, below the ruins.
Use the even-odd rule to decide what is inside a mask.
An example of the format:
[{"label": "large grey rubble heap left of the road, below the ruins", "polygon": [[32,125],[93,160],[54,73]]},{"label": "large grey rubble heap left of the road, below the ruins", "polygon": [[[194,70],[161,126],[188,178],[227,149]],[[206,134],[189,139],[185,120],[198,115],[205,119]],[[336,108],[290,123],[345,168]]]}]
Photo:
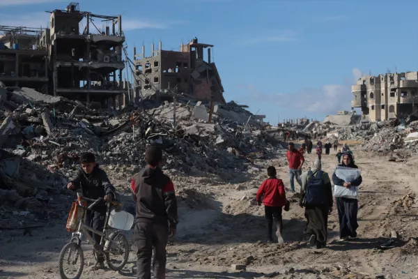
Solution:
[{"label": "large grey rubble heap left of the road, below the ruins", "polygon": [[[144,164],[147,144],[162,146],[169,171],[228,180],[233,173],[253,172],[254,159],[280,146],[245,106],[215,105],[209,123],[208,104],[182,96],[167,99],[148,98],[135,109],[114,112],[32,89],[0,88],[0,148],[17,169],[0,172],[0,188],[16,190],[17,181],[28,183],[22,175],[29,174],[43,183],[42,194],[51,195],[75,175],[85,151],[95,153],[104,167],[118,168],[126,179]],[[42,196],[37,191],[17,194],[37,201]],[[13,197],[14,203],[18,199],[15,193],[0,196]],[[29,209],[30,202],[36,201],[17,207]]]}]

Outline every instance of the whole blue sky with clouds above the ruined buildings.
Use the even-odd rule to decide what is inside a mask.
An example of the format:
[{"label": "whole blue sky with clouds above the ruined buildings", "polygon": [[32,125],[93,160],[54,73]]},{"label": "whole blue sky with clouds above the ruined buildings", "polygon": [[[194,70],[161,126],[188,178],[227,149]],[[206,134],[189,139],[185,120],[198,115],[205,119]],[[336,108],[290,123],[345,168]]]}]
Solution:
[{"label": "whole blue sky with clouds above the ruined buildings", "polygon": [[[69,1],[0,0],[0,25],[47,27]],[[215,45],[227,101],[277,123],[350,110],[362,75],[418,70],[418,1],[80,0],[80,10],[122,15],[127,51],[194,37]],[[115,4],[116,3],[116,4]]]}]

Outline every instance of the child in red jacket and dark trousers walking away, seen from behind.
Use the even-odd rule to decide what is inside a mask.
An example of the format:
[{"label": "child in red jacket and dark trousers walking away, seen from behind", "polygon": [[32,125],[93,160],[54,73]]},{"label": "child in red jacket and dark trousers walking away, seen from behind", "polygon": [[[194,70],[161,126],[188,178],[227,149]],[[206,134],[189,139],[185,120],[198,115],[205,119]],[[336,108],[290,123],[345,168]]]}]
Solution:
[{"label": "child in red jacket and dark trousers walking away, seen from behind", "polygon": [[272,229],[273,219],[276,222],[277,230],[277,242],[283,244],[283,236],[281,232],[283,230],[283,220],[281,218],[282,206],[286,205],[286,193],[284,190],[284,184],[281,179],[276,177],[276,169],[272,166],[267,168],[268,179],[263,181],[260,188],[257,191],[257,202],[261,206],[261,200],[264,204],[265,219],[267,220],[267,241],[272,242]]}]

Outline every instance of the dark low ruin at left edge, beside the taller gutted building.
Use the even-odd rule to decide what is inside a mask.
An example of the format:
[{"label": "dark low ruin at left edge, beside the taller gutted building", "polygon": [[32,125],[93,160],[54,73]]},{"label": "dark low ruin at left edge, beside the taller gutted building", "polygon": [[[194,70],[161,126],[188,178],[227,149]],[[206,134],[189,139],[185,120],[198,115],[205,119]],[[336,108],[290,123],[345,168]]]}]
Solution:
[{"label": "dark low ruin at left edge, beside the taller gutted building", "polygon": [[42,29],[0,26],[0,82],[48,93],[47,47]]}]

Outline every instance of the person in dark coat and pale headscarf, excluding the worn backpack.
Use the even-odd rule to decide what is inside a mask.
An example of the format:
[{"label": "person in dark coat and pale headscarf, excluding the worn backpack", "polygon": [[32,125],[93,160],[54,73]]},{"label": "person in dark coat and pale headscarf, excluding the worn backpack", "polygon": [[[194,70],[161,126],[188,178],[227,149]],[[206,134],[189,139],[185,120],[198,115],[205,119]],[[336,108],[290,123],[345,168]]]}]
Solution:
[{"label": "person in dark coat and pale headscarf, excluding the worn backpack", "polygon": [[[314,177],[322,170],[320,160],[316,159],[312,165],[311,172]],[[300,190],[301,196],[306,195],[307,186],[309,181],[309,174],[305,172],[302,174],[302,188]],[[311,237],[309,243],[311,246],[316,246],[316,248],[323,248],[327,244],[327,234],[328,234],[328,215],[332,212],[332,186],[330,181],[330,176],[326,172],[322,172],[320,175],[320,180],[322,181],[323,197],[325,203],[321,205],[306,204],[305,206],[305,218],[307,218],[307,227],[304,233],[309,234]],[[301,204],[302,206],[302,204]]]}]

